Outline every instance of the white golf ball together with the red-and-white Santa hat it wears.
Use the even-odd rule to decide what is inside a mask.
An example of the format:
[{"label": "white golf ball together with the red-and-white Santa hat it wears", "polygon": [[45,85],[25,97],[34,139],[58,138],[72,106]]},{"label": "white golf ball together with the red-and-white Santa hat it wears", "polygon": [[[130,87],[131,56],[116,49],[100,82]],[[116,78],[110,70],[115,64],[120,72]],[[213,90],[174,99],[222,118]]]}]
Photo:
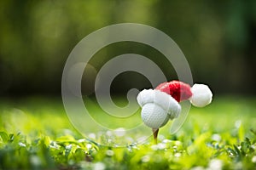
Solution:
[{"label": "white golf ball together with the red-and-white Santa hat it wears", "polygon": [[212,92],[204,84],[195,84],[191,88],[184,82],[172,81],[161,83],[155,89],[144,89],[137,96],[137,102],[143,108],[143,122],[155,129],[179,116],[181,106],[178,102],[187,99],[192,105],[204,107],[211,103]]}]

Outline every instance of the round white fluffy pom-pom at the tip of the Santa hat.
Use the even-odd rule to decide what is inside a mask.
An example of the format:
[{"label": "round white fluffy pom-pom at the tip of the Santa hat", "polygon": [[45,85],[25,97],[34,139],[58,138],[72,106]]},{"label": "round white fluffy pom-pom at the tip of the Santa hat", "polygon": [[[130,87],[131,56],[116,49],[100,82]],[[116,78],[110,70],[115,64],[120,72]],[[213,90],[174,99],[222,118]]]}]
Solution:
[{"label": "round white fluffy pom-pom at the tip of the Santa hat", "polygon": [[212,92],[207,85],[194,84],[191,88],[192,96],[190,102],[196,107],[204,107],[212,102]]}]

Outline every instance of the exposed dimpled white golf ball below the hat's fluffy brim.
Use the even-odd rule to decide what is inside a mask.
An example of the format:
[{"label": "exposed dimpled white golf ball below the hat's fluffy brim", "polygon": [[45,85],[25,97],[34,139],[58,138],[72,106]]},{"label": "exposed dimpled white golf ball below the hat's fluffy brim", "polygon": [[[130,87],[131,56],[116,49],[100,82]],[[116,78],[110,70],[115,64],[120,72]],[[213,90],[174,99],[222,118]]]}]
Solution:
[{"label": "exposed dimpled white golf ball below the hat's fluffy brim", "polygon": [[143,106],[142,119],[148,127],[157,129],[166,125],[169,115],[159,105],[148,103]]}]

